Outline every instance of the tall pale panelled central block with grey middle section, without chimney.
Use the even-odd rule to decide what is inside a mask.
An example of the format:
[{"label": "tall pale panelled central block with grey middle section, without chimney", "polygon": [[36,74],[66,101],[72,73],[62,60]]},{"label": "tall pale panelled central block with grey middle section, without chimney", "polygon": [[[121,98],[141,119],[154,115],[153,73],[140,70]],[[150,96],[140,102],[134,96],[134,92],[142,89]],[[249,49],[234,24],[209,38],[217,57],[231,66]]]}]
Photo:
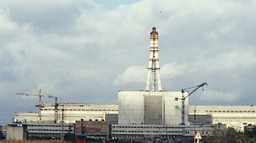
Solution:
[{"label": "tall pale panelled central block with grey middle section, without chimney", "polygon": [[[185,96],[188,93],[185,92]],[[119,124],[181,123],[181,92],[119,91]],[[185,101],[185,122],[188,121],[188,98]]]}]

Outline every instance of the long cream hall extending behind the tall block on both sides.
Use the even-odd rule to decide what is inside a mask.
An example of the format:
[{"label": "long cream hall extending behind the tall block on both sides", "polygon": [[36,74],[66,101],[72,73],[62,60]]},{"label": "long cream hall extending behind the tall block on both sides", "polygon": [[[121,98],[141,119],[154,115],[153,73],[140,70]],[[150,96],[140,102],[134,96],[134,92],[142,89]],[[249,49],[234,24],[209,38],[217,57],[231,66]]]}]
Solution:
[{"label": "long cream hall extending behind the tall block on both sides", "polygon": [[[176,101],[179,102],[179,101]],[[196,112],[195,112],[196,110]],[[58,109],[58,122],[61,119],[61,108]],[[105,120],[106,114],[118,114],[118,105],[90,105],[90,106],[68,106],[64,107],[64,123],[75,123],[76,120],[84,119],[84,121]],[[210,106],[210,105],[190,105],[189,115],[210,115],[211,123],[227,124],[239,126],[243,130],[245,125],[256,125],[256,106]],[[170,115],[171,116],[171,115]],[[174,115],[173,115],[174,116]],[[180,119],[181,115],[176,115],[176,119]],[[37,122],[37,113],[15,113],[15,121]],[[43,120],[54,120],[54,107],[42,108]]]}]

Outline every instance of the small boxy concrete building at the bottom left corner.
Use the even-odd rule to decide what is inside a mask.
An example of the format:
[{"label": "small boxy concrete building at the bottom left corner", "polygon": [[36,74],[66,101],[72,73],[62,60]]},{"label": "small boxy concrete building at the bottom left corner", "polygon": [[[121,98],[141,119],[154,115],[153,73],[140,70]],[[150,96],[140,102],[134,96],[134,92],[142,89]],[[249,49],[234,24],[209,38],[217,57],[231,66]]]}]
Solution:
[{"label": "small boxy concrete building at the bottom left corner", "polygon": [[6,127],[6,140],[26,140],[26,127]]}]

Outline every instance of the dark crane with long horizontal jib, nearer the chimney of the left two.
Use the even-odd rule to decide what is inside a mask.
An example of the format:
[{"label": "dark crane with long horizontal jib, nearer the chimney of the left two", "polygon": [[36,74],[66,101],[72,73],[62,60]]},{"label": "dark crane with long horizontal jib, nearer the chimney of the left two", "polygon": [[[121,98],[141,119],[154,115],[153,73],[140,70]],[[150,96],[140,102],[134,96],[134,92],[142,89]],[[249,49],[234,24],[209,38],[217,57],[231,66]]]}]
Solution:
[{"label": "dark crane with long horizontal jib, nearer the chimney of the left two", "polygon": [[[36,107],[38,107],[38,105],[35,105]],[[41,107],[54,107],[54,123],[58,122],[58,107],[59,106],[91,106],[85,103],[58,103],[57,101],[57,97],[55,97],[55,103],[54,104],[41,104]],[[62,114],[63,114],[63,109],[62,110]],[[63,122],[63,116],[62,116],[62,122]]]}]

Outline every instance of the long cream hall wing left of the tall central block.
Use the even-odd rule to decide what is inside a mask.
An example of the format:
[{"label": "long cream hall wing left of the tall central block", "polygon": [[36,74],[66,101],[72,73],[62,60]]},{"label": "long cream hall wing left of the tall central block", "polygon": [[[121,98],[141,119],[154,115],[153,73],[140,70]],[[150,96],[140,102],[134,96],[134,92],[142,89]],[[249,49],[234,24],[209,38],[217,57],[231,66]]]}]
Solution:
[{"label": "long cream hall wing left of the tall central block", "polygon": [[[89,105],[89,106],[64,106],[64,123],[75,123],[76,120],[89,119],[101,121],[105,119],[105,114],[118,114],[118,105]],[[47,107],[42,104],[41,118],[43,121],[54,120],[54,107]],[[58,108],[58,122],[62,118],[62,107]],[[21,122],[37,122],[38,113],[14,113],[14,120]]]}]

